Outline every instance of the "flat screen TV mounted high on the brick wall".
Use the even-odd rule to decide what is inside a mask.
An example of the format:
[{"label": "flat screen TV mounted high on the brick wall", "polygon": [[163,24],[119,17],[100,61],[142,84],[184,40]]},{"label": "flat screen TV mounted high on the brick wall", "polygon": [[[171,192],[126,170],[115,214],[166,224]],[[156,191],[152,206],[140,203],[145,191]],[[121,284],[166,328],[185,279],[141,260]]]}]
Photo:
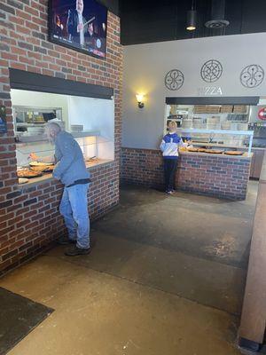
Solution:
[{"label": "flat screen TV mounted high on the brick wall", "polygon": [[49,39],[106,58],[107,9],[95,0],[50,0]]}]

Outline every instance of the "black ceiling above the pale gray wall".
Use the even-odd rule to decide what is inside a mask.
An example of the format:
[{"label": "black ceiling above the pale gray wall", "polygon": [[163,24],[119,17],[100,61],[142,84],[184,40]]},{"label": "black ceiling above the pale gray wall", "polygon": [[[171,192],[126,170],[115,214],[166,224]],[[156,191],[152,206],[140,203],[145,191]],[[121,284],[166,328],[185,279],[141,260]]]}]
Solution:
[{"label": "black ceiling above the pale gray wall", "polygon": [[196,0],[197,29],[189,32],[185,29],[186,13],[191,5],[192,0],[120,0],[121,43],[128,45],[266,31],[266,0],[225,0],[225,19],[230,21],[230,25],[224,29],[204,26],[210,20],[211,0]]}]

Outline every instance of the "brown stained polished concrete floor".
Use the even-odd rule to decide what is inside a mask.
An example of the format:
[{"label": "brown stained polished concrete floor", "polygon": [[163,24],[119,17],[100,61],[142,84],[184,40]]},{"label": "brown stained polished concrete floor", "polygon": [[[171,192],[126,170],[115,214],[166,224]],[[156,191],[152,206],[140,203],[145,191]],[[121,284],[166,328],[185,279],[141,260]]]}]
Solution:
[{"label": "brown stained polished concrete floor", "polygon": [[9,354],[239,354],[256,189],[232,202],[122,187],[90,256],[54,248],[0,280],[55,310]]}]

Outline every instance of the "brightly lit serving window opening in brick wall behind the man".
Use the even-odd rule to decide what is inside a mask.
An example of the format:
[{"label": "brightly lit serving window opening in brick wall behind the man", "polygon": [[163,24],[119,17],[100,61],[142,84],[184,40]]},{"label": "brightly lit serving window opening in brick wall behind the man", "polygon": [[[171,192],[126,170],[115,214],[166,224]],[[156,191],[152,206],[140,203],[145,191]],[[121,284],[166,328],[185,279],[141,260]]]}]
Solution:
[{"label": "brightly lit serving window opening in brick wall behind the man", "polygon": [[28,166],[28,156],[52,155],[44,136],[45,122],[58,118],[74,135],[87,162],[114,159],[113,99],[84,98],[38,91],[12,89],[18,167]]}]

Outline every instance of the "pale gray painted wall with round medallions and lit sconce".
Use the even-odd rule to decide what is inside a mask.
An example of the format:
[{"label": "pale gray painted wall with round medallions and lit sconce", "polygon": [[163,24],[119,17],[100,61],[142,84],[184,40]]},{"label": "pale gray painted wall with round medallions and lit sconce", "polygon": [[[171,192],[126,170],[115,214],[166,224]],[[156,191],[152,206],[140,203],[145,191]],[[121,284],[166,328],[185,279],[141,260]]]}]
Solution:
[{"label": "pale gray painted wall with round medallions and lit sconce", "polygon": [[[223,96],[265,96],[266,78],[256,88],[241,85],[242,68],[259,64],[266,71],[266,34],[219,36],[124,47],[122,146],[157,148],[163,132],[166,97],[202,96],[200,88],[220,87]],[[223,64],[223,75],[205,83],[200,68],[208,59]],[[184,74],[184,85],[169,91],[164,77],[171,69]],[[145,107],[137,107],[136,93],[145,93]]]}]

